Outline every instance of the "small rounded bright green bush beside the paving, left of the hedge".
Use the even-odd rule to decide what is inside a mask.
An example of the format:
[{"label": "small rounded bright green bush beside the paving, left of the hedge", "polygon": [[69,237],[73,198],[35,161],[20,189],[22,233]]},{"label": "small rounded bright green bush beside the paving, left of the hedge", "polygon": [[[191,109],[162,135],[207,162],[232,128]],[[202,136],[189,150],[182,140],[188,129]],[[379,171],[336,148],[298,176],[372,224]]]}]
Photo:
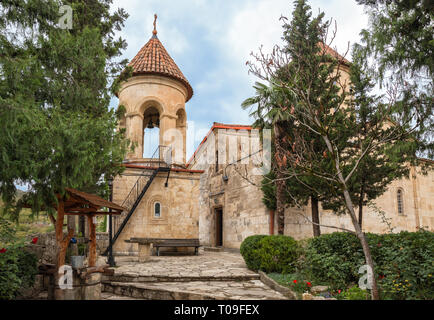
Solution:
[{"label": "small rounded bright green bush beside the paving, left of the hedge", "polygon": [[300,248],[291,237],[261,235],[246,238],[240,252],[251,270],[291,273],[295,271]]}]

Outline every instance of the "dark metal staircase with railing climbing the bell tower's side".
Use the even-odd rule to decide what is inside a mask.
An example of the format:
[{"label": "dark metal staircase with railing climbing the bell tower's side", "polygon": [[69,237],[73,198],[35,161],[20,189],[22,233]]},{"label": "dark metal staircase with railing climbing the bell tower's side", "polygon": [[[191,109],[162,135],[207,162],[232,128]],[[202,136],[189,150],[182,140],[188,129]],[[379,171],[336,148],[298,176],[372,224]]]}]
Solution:
[{"label": "dark metal staircase with railing climbing the bell tower's side", "polygon": [[[155,150],[153,156],[150,159],[146,159],[144,166],[147,168],[143,169],[136,183],[128,193],[125,200],[122,202],[121,206],[127,210],[122,212],[122,215],[120,216],[120,218],[123,219],[113,237],[112,247],[115,244],[116,240],[118,239],[119,235],[124,230],[131,216],[134,214],[135,210],[139,206],[140,201],[143,199],[146,191],[149,189],[149,187],[152,184],[152,181],[154,181],[158,173],[168,172],[168,177],[169,177],[170,162],[171,162],[171,148],[165,146],[159,146],[157,150]],[[150,171],[151,174],[149,175]],[[167,185],[167,181],[166,181],[166,185]],[[107,255],[108,251],[109,248],[107,248],[102,255],[104,256]]]}]

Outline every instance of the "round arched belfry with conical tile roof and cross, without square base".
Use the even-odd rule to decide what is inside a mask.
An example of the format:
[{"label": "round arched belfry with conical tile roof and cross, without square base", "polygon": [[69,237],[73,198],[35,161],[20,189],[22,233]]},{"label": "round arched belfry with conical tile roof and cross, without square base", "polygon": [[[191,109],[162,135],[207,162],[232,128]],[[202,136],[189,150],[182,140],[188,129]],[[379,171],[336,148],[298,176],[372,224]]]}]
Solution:
[{"label": "round arched belfry with conical tile roof and cross, without square base", "polygon": [[[131,60],[133,76],[122,83],[118,93],[119,105],[126,108],[125,118],[119,126],[126,129],[126,136],[136,143],[134,152],[127,155],[130,162],[143,162],[145,149],[158,145],[172,148],[172,162],[186,163],[187,114],[185,103],[193,96],[193,89],[167,53],[157,37],[157,15],[151,39]],[[154,146],[149,145],[151,129],[158,128]]]}]

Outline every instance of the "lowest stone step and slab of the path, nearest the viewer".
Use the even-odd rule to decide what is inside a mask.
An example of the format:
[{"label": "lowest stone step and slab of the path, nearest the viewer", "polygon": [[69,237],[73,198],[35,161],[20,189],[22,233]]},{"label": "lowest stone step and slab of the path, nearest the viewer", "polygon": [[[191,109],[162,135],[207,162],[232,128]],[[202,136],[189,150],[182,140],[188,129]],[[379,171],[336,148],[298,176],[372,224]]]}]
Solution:
[{"label": "lowest stone step and slab of the path, nearest the viewer", "polygon": [[104,282],[106,295],[146,300],[285,300],[259,280],[194,282]]}]

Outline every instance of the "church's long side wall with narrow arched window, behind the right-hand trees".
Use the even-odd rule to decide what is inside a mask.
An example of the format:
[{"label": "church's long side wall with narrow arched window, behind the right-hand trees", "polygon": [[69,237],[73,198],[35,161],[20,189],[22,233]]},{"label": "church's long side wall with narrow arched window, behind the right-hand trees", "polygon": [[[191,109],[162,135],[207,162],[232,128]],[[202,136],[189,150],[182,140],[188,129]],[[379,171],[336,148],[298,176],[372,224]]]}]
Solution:
[{"label": "church's long side wall with narrow arched window, behind the right-hand trees", "polygon": [[[414,176],[413,176],[414,175]],[[398,214],[397,191],[403,191],[403,214]],[[434,231],[434,171],[427,175],[420,168],[412,169],[409,178],[393,181],[388,190],[375,201],[375,207],[363,208],[363,231],[388,233],[416,231],[418,228]],[[285,234],[296,239],[313,236],[310,204],[305,208],[290,208],[285,212]],[[320,206],[320,223],[354,230],[349,215],[338,216]],[[321,233],[339,230],[321,227]]]}]

